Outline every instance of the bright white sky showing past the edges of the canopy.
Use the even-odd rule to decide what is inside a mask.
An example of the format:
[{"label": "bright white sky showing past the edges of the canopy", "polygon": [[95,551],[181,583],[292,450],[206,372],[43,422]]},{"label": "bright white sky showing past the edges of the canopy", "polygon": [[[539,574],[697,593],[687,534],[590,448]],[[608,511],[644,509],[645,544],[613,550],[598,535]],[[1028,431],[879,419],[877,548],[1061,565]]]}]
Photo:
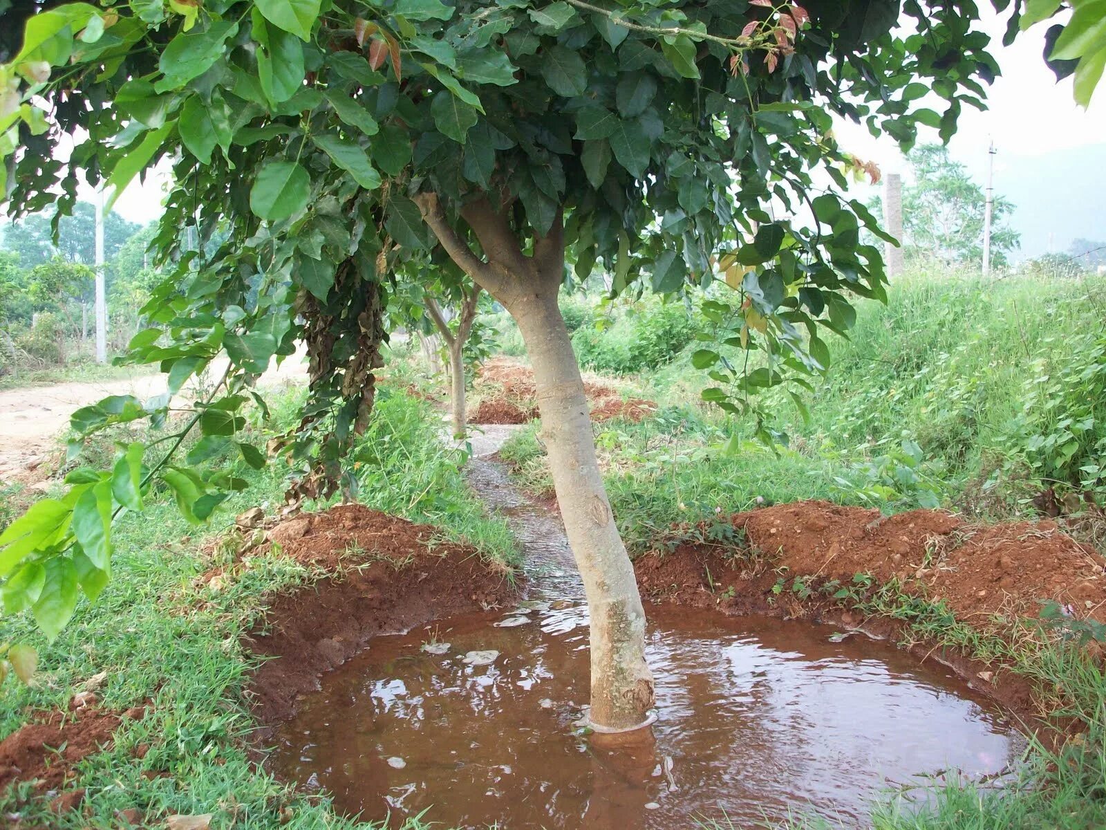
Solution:
[{"label": "bright white sky showing past the edges of the canopy", "polygon": [[[987,112],[964,107],[960,128],[949,149],[953,158],[979,176],[985,169],[987,149],[993,138],[999,151],[995,184],[1001,193],[1003,174],[1015,173],[1004,164],[1004,158],[1045,157],[1074,147],[1106,144],[1106,81],[1087,111],[1076,106],[1072,97],[1072,79],[1057,84],[1042,58],[1047,24],[1022,32],[1012,46],[1003,46],[1004,21],[989,3],[981,6],[983,28],[992,37],[992,54],[1002,74],[988,91]],[[875,138],[866,127],[844,122],[837,125],[837,136],[845,149],[865,160],[876,162],[884,173],[902,170],[902,157],[893,139]],[[924,127],[919,141],[938,141],[936,131]],[[161,212],[166,177],[167,174],[150,176],[142,185],[132,184],[115,203],[115,210],[137,222],[157,218]],[[91,199],[92,194],[82,196]]]}]

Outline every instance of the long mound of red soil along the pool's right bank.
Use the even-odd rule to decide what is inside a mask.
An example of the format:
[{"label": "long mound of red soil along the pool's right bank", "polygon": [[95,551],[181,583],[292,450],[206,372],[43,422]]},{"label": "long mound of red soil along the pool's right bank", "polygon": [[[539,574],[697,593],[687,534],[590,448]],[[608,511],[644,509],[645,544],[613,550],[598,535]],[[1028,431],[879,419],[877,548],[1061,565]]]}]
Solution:
[{"label": "long mound of red soil along the pool's right bank", "polygon": [[671,554],[638,560],[645,591],[740,613],[755,608],[778,569],[786,568],[787,580],[897,578],[906,591],[943,600],[958,619],[975,624],[994,614],[1035,618],[1048,600],[1074,616],[1106,621],[1106,561],[1053,521],[977,526],[935,510],[885,518],[877,510],[802,501],[738,513],[731,522],[760,558],[679,544]]}]

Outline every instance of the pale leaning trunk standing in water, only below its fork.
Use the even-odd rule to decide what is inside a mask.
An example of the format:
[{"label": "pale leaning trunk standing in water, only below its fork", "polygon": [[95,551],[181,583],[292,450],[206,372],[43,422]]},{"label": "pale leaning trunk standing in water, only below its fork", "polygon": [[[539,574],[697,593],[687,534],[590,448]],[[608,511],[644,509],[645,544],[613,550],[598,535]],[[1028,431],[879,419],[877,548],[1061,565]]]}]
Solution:
[{"label": "pale leaning trunk standing in water, only below its fork", "polygon": [[[557,287],[559,288],[559,287]],[[653,675],[645,662],[645,610],[599,474],[584,381],[553,291],[508,305],[534,367],[542,439],[557,505],[587,593],[592,709],[597,732],[647,723]]]}]

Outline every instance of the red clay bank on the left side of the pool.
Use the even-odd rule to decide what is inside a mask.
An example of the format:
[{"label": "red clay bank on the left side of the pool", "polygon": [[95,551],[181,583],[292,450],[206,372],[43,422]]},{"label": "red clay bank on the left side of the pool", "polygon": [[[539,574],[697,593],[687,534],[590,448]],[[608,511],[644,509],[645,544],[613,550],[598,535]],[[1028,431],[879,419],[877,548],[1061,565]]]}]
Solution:
[{"label": "red clay bank on the left side of the pool", "polygon": [[298,698],[372,637],[503,605],[518,595],[519,585],[502,567],[437,536],[430,526],[363,505],[301,515],[268,531],[283,556],[342,570],[273,598],[263,623],[244,637],[248,651],[272,658],[261,664],[247,692],[263,724],[295,714]]}]

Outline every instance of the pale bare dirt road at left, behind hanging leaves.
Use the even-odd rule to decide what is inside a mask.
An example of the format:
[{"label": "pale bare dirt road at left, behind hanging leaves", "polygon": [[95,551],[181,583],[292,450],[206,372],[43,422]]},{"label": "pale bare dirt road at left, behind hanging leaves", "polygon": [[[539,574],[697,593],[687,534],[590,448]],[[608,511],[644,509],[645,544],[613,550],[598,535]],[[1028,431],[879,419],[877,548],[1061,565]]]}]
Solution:
[{"label": "pale bare dirt road at left, behind hanging leaves", "polygon": [[[218,376],[226,359],[215,361],[211,373]],[[280,366],[270,366],[261,385],[273,387],[296,383],[306,377],[306,364],[300,355],[288,357]],[[134,377],[95,383],[60,383],[0,392],[0,483],[30,484],[34,470],[51,453],[60,452],[60,442],[69,429],[70,415],[82,406],[108,395],[134,395],[145,401],[166,388],[165,375],[140,374]]]}]

